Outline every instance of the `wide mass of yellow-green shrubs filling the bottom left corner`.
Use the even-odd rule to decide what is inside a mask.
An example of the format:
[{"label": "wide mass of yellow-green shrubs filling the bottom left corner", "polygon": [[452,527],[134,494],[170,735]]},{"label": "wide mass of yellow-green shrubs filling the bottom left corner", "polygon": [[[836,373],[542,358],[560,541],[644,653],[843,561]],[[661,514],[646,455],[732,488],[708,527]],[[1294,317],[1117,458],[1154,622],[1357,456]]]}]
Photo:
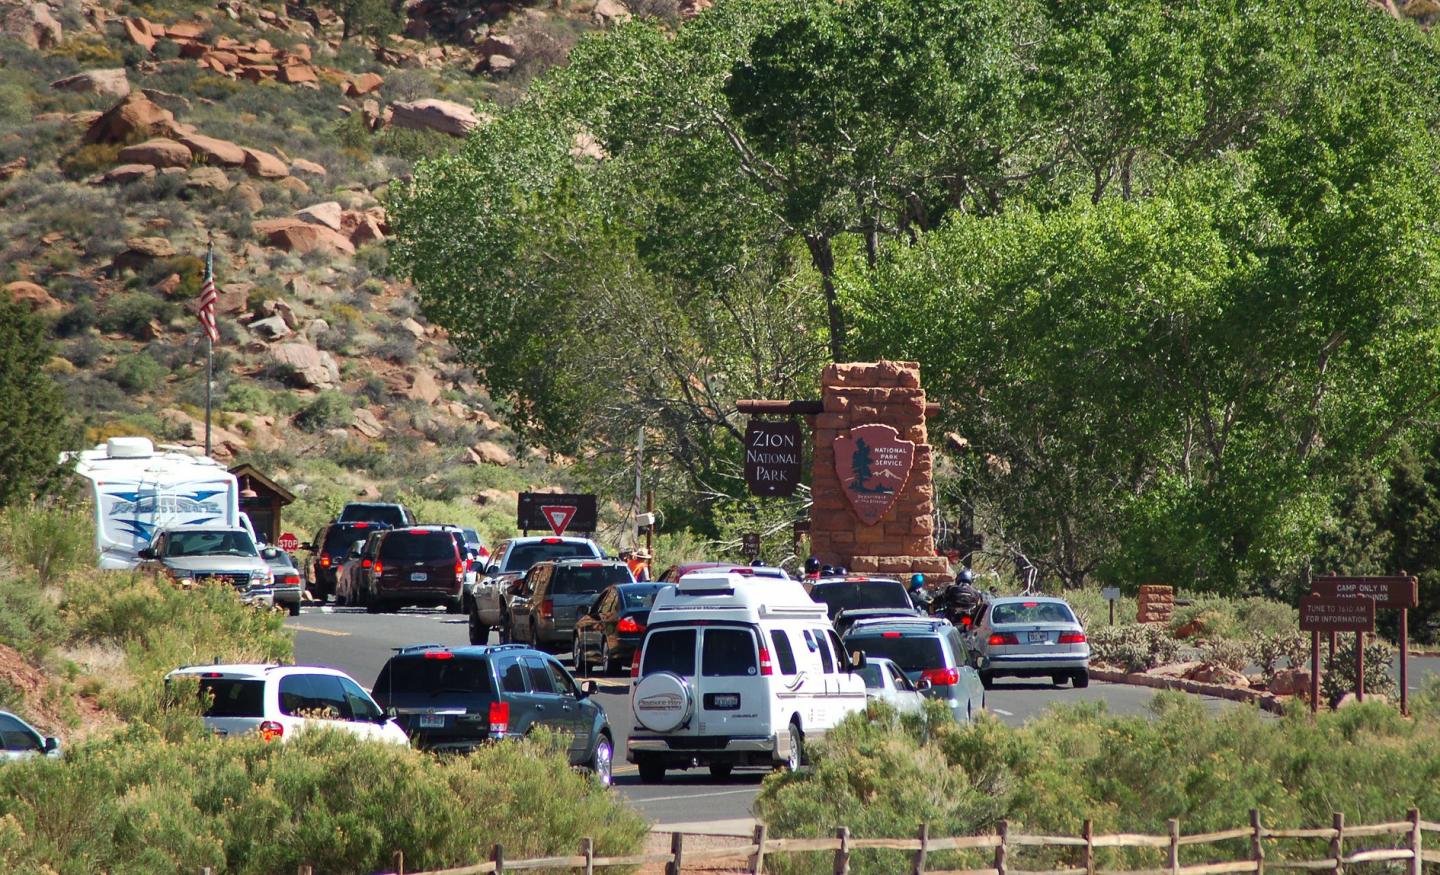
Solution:
[{"label": "wide mass of yellow-green shrubs filling the bottom left corner", "polygon": [[[134,730],[60,760],[0,771],[6,871],[235,875],[327,874],[477,863],[492,843],[513,859],[635,852],[648,825],[570,769],[552,734],[438,758],[408,747],[308,731],[285,744],[174,743]],[[48,868],[46,868],[48,866]]]}]

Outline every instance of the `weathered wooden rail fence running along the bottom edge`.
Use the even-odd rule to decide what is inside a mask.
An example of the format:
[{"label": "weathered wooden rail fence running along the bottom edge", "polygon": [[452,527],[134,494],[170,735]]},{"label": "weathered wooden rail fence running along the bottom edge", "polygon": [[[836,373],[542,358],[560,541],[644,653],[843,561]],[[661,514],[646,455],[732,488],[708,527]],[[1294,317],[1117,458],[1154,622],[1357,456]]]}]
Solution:
[{"label": "weathered wooden rail fence running along the bottom edge", "polygon": [[[1220,832],[1198,835],[1181,835],[1179,820],[1169,822],[1169,835],[1151,836],[1139,833],[1094,835],[1092,822],[1086,820],[1079,836],[1045,836],[1011,833],[1008,825],[1001,820],[999,828],[992,835],[979,836],[930,836],[927,825],[922,823],[913,839],[857,839],[851,838],[844,826],[835,835],[824,839],[772,839],[766,835],[765,826],[755,829],[755,836],[749,845],[730,845],[726,848],[685,848],[685,833],[674,833],[668,853],[629,853],[625,856],[596,856],[595,843],[583,839],[580,852],[572,856],[543,856],[536,859],[510,861],[505,859],[505,849],[495,845],[490,859],[451,869],[429,869],[423,872],[408,872],[405,856],[395,855],[393,869],[386,875],[504,875],[505,872],[527,872],[534,869],[570,869],[585,875],[593,875],[596,869],[613,866],[645,866],[664,863],[665,875],[680,875],[688,863],[739,859],[746,858],[743,871],[759,875],[765,871],[765,861],[780,853],[814,853],[827,852],[834,855],[831,868],[834,875],[848,875],[851,858],[857,852],[865,851],[899,851],[910,853],[910,865],[904,872],[909,875],[1224,875],[1227,872],[1254,872],[1263,875],[1266,869],[1276,871],[1312,871],[1344,875],[1345,866],[1358,863],[1391,863],[1391,871],[1405,875],[1421,875],[1424,863],[1440,866],[1440,849],[1426,851],[1424,833],[1440,833],[1440,823],[1423,820],[1420,812],[1411,809],[1405,820],[1392,823],[1371,823],[1361,826],[1346,826],[1345,816],[1336,813],[1331,826],[1312,829],[1270,829],[1260,822],[1260,812],[1250,812],[1250,825]],[[1392,839],[1388,848],[1349,849],[1346,842],[1355,839]],[[1248,842],[1248,852],[1241,859],[1202,862],[1185,865],[1181,862],[1181,849],[1214,845],[1218,842]],[[1266,842],[1277,839],[1310,839],[1328,840],[1328,856],[1320,859],[1267,859]],[[1440,846],[1440,842],[1437,842]],[[1081,865],[1061,869],[1020,869],[1009,865],[1011,851],[1017,848],[1073,848],[1079,851]],[[1158,869],[1102,869],[1096,866],[1096,849],[1129,848],[1153,849],[1165,852],[1165,866]],[[992,862],[979,869],[927,869],[926,862],[930,853],[945,851],[989,851]],[[1433,872],[1436,869],[1431,869]],[[202,871],[209,875],[209,871]],[[298,875],[312,875],[311,866],[300,866]]]}]

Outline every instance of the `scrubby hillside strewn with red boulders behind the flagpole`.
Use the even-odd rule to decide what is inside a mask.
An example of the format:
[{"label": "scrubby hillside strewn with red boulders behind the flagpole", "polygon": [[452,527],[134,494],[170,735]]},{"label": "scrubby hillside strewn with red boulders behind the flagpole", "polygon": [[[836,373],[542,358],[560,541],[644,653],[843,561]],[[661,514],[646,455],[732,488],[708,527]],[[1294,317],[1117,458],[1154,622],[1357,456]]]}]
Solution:
[{"label": "scrubby hillside strewn with red boulders behind the flagpole", "polygon": [[586,30],[703,1],[412,0],[379,37],[360,4],[0,3],[0,285],[49,317],[76,443],[203,440],[213,240],[215,453],[295,486],[301,525],[384,492],[503,531],[563,475],[389,275],[386,186]]}]

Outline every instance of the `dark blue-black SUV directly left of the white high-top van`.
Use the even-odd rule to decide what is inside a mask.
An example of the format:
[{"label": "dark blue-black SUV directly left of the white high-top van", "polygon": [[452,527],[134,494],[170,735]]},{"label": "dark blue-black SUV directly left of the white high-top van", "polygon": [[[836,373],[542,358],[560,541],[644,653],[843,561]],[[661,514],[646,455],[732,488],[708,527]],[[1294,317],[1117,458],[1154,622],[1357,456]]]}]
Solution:
[{"label": "dark blue-black SUV directly left of the white high-top van", "polygon": [[615,735],[605,708],[549,653],[524,645],[400,648],[374,679],[374,701],[422,750],[467,753],[544,725],[570,735],[570,763],[611,784]]}]

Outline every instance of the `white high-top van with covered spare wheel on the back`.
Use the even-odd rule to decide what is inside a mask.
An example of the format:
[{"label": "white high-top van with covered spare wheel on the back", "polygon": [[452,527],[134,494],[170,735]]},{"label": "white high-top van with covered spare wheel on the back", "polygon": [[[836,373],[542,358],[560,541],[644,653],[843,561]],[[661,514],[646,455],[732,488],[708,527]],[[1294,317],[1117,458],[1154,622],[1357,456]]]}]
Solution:
[{"label": "white high-top van with covered spare wheel on the back", "polygon": [[701,764],[716,777],[798,769],[808,741],[865,708],[857,668],[825,606],[783,571],[685,574],[655,599],[631,668],[626,758],[645,783]]}]

